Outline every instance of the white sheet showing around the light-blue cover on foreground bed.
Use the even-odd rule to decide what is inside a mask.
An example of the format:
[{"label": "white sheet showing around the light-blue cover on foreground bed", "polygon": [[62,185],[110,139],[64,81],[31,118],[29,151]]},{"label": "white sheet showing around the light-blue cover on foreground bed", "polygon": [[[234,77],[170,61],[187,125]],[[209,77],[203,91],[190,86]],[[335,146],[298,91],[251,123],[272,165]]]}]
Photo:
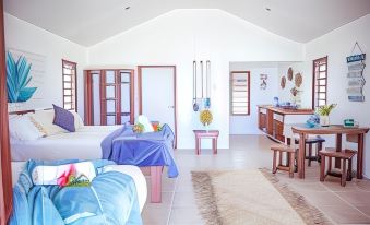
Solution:
[{"label": "white sheet showing around the light-blue cover on foreground bed", "polygon": [[[16,183],[17,178],[24,168],[24,165],[25,165],[25,162],[12,162],[13,186]],[[131,165],[110,165],[110,166],[105,166],[103,169],[103,171],[109,171],[109,170],[120,171],[122,174],[126,174],[132,177],[136,186],[140,211],[142,211],[146,202],[147,187],[146,187],[145,177],[143,173],[140,170],[140,168],[136,166],[131,166]]]}]

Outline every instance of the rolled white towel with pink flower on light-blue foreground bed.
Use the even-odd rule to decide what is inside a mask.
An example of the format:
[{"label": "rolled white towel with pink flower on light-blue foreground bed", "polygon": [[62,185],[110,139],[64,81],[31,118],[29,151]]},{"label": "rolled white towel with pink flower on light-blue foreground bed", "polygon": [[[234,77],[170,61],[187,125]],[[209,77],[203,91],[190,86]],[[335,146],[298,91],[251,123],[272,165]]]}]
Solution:
[{"label": "rolled white towel with pink flower on light-blue foreground bed", "polygon": [[84,176],[89,181],[96,177],[95,167],[91,162],[64,164],[59,166],[36,166],[32,171],[34,185],[65,186],[70,175]]}]

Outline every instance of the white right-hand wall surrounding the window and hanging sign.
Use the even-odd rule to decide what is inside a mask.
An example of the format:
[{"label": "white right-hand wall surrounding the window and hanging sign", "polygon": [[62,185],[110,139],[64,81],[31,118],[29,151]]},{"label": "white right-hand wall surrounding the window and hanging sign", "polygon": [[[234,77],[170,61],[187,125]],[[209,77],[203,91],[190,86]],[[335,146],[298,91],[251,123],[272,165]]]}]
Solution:
[{"label": "white right-hand wall surrounding the window and hanging sign", "polygon": [[[365,79],[368,81],[363,88],[365,102],[355,103],[347,99],[347,64],[346,57],[351,55],[355,43],[358,42],[367,54]],[[337,103],[331,114],[332,123],[343,123],[345,118],[354,118],[360,126],[370,127],[370,14],[344,25],[306,45],[305,71],[312,79],[312,60],[327,56],[327,103]],[[355,51],[358,54],[358,51]],[[308,90],[310,95],[312,91]],[[370,134],[366,135],[365,174],[370,177]]]}]

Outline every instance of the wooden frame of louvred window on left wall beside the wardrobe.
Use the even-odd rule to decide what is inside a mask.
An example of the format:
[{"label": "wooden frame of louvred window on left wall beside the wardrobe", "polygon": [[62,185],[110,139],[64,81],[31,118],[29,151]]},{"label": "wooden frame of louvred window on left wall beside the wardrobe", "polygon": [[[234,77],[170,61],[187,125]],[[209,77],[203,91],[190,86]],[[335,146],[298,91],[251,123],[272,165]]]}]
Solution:
[{"label": "wooden frame of louvred window on left wall beside the wardrobe", "polygon": [[[71,66],[72,70],[74,70],[74,74],[64,74],[65,66]],[[68,83],[68,81],[65,81],[67,75],[71,76],[71,80],[70,80],[71,81],[71,88],[68,88],[68,90],[71,90],[71,95],[64,94],[64,91],[67,90],[65,83]],[[68,104],[65,102],[65,97],[68,97],[68,96],[71,97],[71,102],[68,102],[69,104],[71,104],[70,108],[65,108],[65,104]],[[77,111],[77,63],[65,60],[65,59],[62,59],[62,98],[63,98],[63,108],[64,109]]]}]

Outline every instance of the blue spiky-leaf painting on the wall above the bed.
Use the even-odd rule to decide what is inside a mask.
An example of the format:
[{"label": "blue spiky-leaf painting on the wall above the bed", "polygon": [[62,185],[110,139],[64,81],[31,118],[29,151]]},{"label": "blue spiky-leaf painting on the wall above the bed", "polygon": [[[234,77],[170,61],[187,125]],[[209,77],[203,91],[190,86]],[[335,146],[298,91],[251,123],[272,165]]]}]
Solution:
[{"label": "blue spiky-leaf painting on the wall above the bed", "polygon": [[29,75],[32,64],[24,56],[14,60],[11,52],[7,52],[7,87],[9,103],[27,102],[36,92],[37,87],[27,87],[32,80]]}]

